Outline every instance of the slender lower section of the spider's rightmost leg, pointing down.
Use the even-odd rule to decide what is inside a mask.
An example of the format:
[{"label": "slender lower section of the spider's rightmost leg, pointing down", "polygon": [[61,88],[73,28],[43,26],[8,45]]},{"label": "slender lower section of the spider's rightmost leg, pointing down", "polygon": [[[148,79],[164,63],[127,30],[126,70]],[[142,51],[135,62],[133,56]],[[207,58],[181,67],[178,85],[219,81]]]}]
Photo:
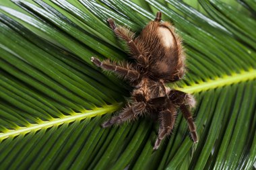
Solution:
[{"label": "slender lower section of the spider's rightmost leg, pointing down", "polygon": [[189,109],[187,108],[186,105],[181,105],[181,112],[183,113],[183,116],[187,120],[187,124],[189,124],[189,130],[190,130],[190,134],[191,134],[193,141],[195,143],[198,142],[197,131],[195,128],[195,124],[193,122],[191,112],[189,111]]}]

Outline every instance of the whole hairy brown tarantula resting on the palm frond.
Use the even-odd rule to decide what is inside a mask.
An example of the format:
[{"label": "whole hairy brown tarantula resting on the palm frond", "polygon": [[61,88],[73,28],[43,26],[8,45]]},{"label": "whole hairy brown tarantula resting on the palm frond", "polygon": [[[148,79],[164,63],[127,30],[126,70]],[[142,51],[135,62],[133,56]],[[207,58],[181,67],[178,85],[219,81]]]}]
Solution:
[{"label": "whole hairy brown tarantula resting on the palm frond", "polygon": [[127,43],[135,63],[117,64],[91,58],[97,67],[115,72],[134,87],[131,103],[119,115],[104,122],[102,127],[135,120],[143,114],[157,118],[160,125],[154,150],[158,149],[161,140],[172,131],[179,108],[187,120],[193,142],[198,141],[191,116],[191,108],[195,107],[193,95],[165,85],[179,81],[185,75],[185,54],[174,27],[169,22],[161,22],[161,16],[162,13],[158,11],[154,21],[149,22],[137,37],[128,28],[117,26],[113,19],[107,19],[115,35]]}]

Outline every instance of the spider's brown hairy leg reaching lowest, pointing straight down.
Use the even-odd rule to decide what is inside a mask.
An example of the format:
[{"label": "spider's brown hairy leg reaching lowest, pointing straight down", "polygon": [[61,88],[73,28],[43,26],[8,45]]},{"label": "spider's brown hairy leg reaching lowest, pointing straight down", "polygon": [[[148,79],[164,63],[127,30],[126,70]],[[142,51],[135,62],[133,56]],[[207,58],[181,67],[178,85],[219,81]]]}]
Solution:
[{"label": "spider's brown hairy leg reaching lowest, pointing straight down", "polygon": [[158,130],[158,138],[154,144],[154,150],[157,150],[160,146],[160,142],[172,131],[174,122],[176,120],[176,109],[173,104],[170,104],[169,108],[160,112],[160,126]]}]

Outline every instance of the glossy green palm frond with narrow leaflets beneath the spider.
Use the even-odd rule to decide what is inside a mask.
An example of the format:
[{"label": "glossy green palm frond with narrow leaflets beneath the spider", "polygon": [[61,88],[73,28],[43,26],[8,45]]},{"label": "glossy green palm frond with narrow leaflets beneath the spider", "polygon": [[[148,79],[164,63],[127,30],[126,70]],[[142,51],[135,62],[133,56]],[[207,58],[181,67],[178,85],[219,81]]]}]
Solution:
[{"label": "glossy green palm frond with narrow leaflets beneath the spider", "polygon": [[[196,6],[197,9],[190,5]],[[256,160],[255,1],[13,0],[0,2],[1,169],[252,169]],[[100,124],[131,88],[91,56],[125,60],[106,24],[139,32],[156,11],[184,40],[199,143],[179,115],[153,152],[157,125]]]}]

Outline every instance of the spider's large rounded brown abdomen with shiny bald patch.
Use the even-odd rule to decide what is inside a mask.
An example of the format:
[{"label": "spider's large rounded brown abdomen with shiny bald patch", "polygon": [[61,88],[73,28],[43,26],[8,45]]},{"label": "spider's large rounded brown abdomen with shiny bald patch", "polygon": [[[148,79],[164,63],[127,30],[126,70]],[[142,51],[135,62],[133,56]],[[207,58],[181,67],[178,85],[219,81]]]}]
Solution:
[{"label": "spider's large rounded brown abdomen with shiny bald patch", "polygon": [[[179,36],[168,22],[150,22],[138,37],[138,45],[148,51],[150,77],[166,83],[185,74],[185,57]],[[153,78],[154,77],[154,78]]]}]

